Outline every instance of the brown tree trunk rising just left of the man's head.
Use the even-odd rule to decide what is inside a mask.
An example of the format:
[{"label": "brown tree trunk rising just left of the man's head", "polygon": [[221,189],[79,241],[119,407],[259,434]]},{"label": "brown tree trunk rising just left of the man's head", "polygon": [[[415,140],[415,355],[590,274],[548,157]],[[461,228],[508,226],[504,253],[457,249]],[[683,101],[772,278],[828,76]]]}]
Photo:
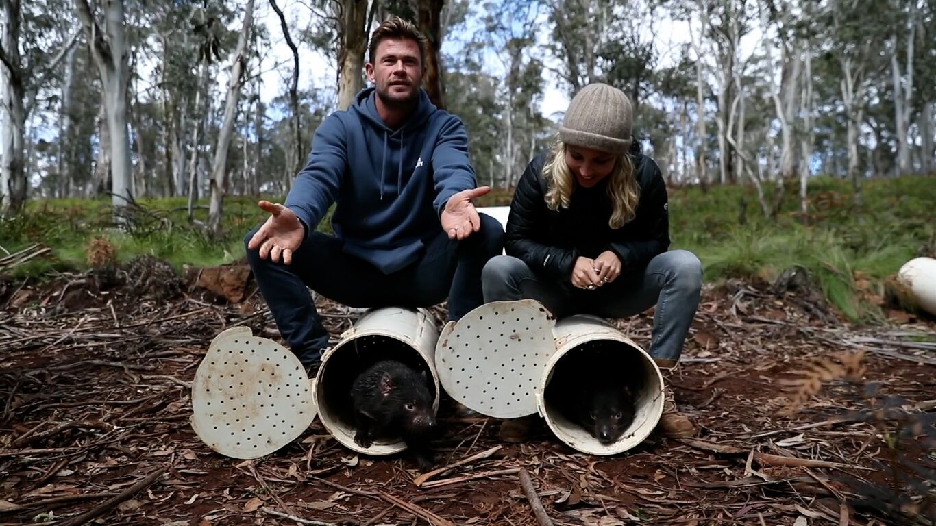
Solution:
[{"label": "brown tree trunk rising just left of the man's head", "polygon": [[361,90],[364,51],[368,36],[367,0],[346,0],[341,3],[338,27],[338,109],[346,110]]}]

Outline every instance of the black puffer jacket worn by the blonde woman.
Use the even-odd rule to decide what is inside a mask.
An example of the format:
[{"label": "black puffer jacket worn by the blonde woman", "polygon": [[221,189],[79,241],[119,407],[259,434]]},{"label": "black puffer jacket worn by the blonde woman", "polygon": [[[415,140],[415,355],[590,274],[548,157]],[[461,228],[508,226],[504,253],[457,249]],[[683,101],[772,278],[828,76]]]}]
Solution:
[{"label": "black puffer jacket worn by the blonde woman", "polygon": [[592,188],[577,187],[568,209],[553,212],[546,204],[548,184],[542,176],[547,153],[530,161],[517,185],[507,219],[505,252],[530,269],[557,281],[572,276],[578,256],[597,257],[610,250],[622,263],[621,273],[647,266],[669,247],[666,186],[650,157],[631,153],[640,186],[636,217],[616,230],[607,225],[611,200],[607,178]]}]

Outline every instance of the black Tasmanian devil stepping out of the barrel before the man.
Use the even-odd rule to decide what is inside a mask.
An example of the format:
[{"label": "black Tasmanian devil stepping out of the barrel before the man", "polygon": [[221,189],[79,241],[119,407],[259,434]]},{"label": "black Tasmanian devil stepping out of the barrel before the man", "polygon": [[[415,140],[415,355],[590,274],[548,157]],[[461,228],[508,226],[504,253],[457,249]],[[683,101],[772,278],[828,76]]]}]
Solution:
[{"label": "black Tasmanian devil stepping out of the barrel before the man", "polygon": [[354,441],[373,444],[372,435],[402,437],[421,469],[432,466],[429,442],[437,425],[426,373],[394,359],[385,359],[358,374],[351,385]]}]

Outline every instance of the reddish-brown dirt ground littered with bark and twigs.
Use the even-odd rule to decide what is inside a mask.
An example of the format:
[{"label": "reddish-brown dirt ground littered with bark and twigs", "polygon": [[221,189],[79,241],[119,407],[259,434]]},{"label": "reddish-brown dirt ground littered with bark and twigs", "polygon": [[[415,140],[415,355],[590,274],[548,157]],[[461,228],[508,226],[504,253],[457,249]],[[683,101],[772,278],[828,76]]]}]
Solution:
[{"label": "reddish-brown dirt ground littered with bark and twigs", "polygon": [[[358,456],[317,419],[261,459],[212,451],[191,382],[223,329],[278,339],[263,301],[108,279],[0,285],[0,524],[541,524],[519,470],[557,525],[936,521],[932,320],[858,329],[802,287],[707,286],[671,381],[696,437],[597,457],[540,425],[508,444],[445,399],[437,463],[489,454],[417,486],[410,457]],[[356,315],[320,307],[333,334]],[[646,348],[651,316],[619,325]]]}]

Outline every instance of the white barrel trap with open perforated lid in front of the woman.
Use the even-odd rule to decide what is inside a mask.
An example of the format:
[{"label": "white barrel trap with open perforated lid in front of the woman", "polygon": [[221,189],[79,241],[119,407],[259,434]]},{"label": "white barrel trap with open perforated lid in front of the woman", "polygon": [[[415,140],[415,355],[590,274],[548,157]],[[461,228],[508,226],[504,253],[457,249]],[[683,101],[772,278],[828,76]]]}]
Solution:
[{"label": "white barrel trap with open perforated lid in front of the woman", "polygon": [[[637,353],[642,367],[634,422],[620,440],[606,446],[559,416],[544,402],[543,393],[559,358],[582,346],[607,342],[622,352]],[[575,315],[556,322],[535,300],[493,301],[449,323],[442,330],[435,358],[439,379],[456,401],[497,418],[538,413],[557,438],[583,453],[613,455],[637,446],[663,415],[663,375],[639,345],[596,316]]]}]

